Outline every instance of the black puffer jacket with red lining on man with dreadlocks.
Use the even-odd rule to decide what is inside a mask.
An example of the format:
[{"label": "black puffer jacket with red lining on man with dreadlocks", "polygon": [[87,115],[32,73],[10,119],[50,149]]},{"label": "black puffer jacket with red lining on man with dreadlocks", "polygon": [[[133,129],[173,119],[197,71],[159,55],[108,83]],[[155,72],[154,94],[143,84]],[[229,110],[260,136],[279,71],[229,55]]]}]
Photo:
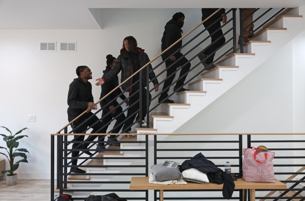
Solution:
[{"label": "black puffer jacket with red lining on man with dreadlocks", "polygon": [[[147,54],[144,52],[143,49],[138,48],[138,55],[139,55],[139,67],[143,67],[146,65],[150,60],[147,56]],[[159,84],[156,75],[154,71],[152,70],[151,64],[148,65],[149,68],[149,79],[152,80],[152,82],[155,84]],[[118,56],[116,59],[116,62],[112,69],[104,75],[102,78],[106,82],[110,82],[120,71],[122,70],[121,73],[121,82],[125,81],[128,77],[130,77],[134,72],[133,72],[133,67],[131,63],[131,58],[128,55],[128,52],[124,51],[123,49],[121,50],[121,54]],[[142,73],[142,86],[146,87],[146,67],[141,71]],[[133,78],[131,78],[130,81],[125,82],[122,85],[123,90],[127,90],[127,92],[131,92],[130,86],[133,83]]]}]

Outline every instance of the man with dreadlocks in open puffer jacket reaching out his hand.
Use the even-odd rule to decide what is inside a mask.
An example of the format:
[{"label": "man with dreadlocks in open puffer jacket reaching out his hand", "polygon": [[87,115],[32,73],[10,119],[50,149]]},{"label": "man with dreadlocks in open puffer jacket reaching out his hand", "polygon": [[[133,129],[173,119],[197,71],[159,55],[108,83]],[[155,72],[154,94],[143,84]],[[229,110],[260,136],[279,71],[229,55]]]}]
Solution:
[{"label": "man with dreadlocks in open puffer jacket reaching out his hand", "polygon": [[[123,46],[120,51],[120,55],[117,57],[116,62],[112,69],[103,77],[96,79],[98,82],[97,86],[102,85],[104,83],[110,82],[120,71],[121,72],[121,82],[128,79],[131,75],[133,75],[138,69],[146,65],[150,60],[147,54],[143,49],[137,47],[136,38],[133,36],[127,36],[123,40]],[[152,69],[151,64],[148,66],[149,69],[149,79],[153,82],[155,91],[159,90],[159,82],[156,78],[156,75]],[[131,132],[131,127],[134,125],[134,120],[136,118],[137,110],[139,109],[139,99],[142,99],[142,116],[139,117],[138,121],[144,122],[144,118],[146,116],[146,67],[140,71],[142,74],[142,85],[139,85],[139,73],[135,74],[130,81],[125,82],[122,85],[122,89],[126,92],[129,92],[129,107],[127,111],[126,122],[122,128],[122,133],[131,134],[128,136],[134,136]],[[137,82],[137,83],[136,83]],[[131,86],[132,84],[135,85]],[[142,91],[142,97],[140,97],[139,90]],[[151,95],[149,94],[149,100],[151,100]],[[133,104],[135,103],[135,104]]]}]

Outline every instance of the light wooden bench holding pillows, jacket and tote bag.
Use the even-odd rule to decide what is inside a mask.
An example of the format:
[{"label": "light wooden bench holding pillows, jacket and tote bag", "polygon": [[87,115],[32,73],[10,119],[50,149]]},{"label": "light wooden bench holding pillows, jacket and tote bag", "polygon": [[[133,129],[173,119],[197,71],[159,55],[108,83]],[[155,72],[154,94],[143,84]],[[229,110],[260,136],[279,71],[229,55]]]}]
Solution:
[{"label": "light wooden bench holding pillows, jacket and tote bag", "polygon": [[[286,184],[276,180],[275,183],[246,182],[242,178],[234,181],[236,190],[250,190],[250,201],[255,201],[256,189],[286,189]],[[223,184],[207,183],[199,184],[188,182],[186,185],[160,185],[148,182],[148,177],[132,177],[130,190],[159,190],[160,201],[163,201],[164,190],[215,190],[222,189]],[[242,196],[243,198],[244,196]]]}]

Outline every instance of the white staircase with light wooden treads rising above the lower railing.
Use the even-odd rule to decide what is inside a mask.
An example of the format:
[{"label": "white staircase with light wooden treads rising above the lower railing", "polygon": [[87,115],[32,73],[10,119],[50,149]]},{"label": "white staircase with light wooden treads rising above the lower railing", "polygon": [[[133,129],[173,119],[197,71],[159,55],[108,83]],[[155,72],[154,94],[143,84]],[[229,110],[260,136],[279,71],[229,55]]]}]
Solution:
[{"label": "white staircase with light wooden treads rising above the lower railing", "polygon": [[[244,53],[227,54],[215,64],[215,68],[204,71],[202,78],[189,83],[190,91],[176,94],[179,103],[162,104],[162,111],[151,115],[153,126],[150,129],[137,128],[137,133],[173,133],[304,31],[303,16],[304,7],[278,16],[245,44]],[[164,137],[166,135],[159,139]]]}]

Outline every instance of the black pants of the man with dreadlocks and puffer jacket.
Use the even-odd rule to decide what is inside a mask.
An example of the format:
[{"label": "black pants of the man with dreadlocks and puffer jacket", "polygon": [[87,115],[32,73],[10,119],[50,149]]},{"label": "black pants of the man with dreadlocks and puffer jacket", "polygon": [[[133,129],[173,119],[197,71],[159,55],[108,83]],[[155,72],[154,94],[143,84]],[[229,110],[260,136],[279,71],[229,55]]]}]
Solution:
[{"label": "black pants of the man with dreadlocks and puffer jacket", "polygon": [[[134,104],[133,106],[129,106],[128,107],[128,110],[127,110],[127,117],[126,117],[126,122],[123,126],[123,129],[122,129],[122,133],[126,133],[127,131],[131,131],[131,127],[132,127],[132,124],[134,123],[134,120],[136,118],[136,115],[137,115],[137,119],[139,118],[139,112],[136,112],[136,110],[139,109],[139,100],[140,100],[140,93],[139,91],[136,92],[138,89],[138,86],[135,86],[133,87],[133,90],[132,92],[130,93],[130,96],[132,96],[130,99],[129,99],[129,105],[133,104],[134,102],[136,102],[136,104]],[[147,93],[147,90],[141,86],[141,90],[142,90],[142,116],[141,116],[141,120],[144,120],[145,116],[146,116],[146,93]],[[151,100],[151,95],[149,94],[149,100]],[[133,114],[135,113],[135,114]],[[130,127],[130,128],[128,128]]]}]

